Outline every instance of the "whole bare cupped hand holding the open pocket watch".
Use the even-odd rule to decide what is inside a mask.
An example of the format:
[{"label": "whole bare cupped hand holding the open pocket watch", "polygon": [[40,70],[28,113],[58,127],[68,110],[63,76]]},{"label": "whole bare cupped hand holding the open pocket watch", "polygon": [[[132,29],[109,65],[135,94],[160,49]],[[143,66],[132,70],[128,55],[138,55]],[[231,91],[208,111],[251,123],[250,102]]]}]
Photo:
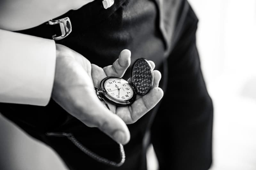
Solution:
[{"label": "whole bare cupped hand holding the open pocket watch", "polygon": [[[158,88],[160,72],[154,71],[153,87],[148,94],[137,96],[131,106],[116,107],[108,103],[108,110],[99,100],[94,87],[98,87],[106,76],[122,77],[130,65],[130,51],[123,50],[113,65],[101,68],[66,46],[56,44],[56,49],[53,100],[85,125],[98,127],[116,142],[126,144],[130,140],[126,124],[137,121],[163,96],[163,91]],[[154,67],[154,63],[150,63]]]}]

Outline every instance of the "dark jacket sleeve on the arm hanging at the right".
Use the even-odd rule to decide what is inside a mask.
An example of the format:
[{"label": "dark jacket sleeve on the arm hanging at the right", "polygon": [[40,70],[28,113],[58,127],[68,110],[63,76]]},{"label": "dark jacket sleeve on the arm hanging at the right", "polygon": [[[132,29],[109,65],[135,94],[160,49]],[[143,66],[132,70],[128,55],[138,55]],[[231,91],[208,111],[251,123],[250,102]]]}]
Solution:
[{"label": "dark jacket sleeve on the arm hanging at the right", "polygon": [[168,85],[151,128],[160,170],[206,170],[212,162],[212,100],[196,48],[197,20],[188,11],[168,57]]}]

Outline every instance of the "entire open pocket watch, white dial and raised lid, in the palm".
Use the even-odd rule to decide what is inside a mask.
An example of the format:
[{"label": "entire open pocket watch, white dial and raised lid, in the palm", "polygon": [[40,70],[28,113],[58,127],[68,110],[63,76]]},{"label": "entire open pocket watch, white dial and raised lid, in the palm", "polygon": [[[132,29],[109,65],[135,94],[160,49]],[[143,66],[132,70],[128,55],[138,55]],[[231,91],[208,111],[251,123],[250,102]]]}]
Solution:
[{"label": "entire open pocket watch, white dial and raised lid, in the palm", "polygon": [[[116,106],[128,106],[136,95],[145,95],[153,85],[153,69],[144,58],[137,59],[131,69],[130,81],[118,77],[106,77],[100,82],[100,89],[94,88],[101,101],[107,100]],[[105,102],[106,107],[108,105]]]}]

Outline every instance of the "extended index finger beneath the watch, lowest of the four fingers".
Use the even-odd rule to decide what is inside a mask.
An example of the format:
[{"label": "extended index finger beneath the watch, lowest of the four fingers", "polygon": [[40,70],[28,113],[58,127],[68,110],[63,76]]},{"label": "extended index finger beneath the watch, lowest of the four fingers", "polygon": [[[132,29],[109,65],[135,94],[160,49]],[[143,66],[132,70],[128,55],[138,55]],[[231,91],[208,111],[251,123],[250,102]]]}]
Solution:
[{"label": "extended index finger beneath the watch, lowest of the four fingers", "polygon": [[156,87],[151,89],[146,95],[139,97],[131,106],[118,107],[116,114],[121,117],[126,124],[132,124],[155,107],[163,95],[164,92],[161,88]]}]

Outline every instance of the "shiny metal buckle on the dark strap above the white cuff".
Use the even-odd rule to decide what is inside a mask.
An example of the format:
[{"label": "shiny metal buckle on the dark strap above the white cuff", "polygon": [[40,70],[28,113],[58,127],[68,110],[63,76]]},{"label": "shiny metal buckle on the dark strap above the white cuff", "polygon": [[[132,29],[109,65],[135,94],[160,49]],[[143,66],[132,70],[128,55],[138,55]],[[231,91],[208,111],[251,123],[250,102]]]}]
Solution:
[{"label": "shiny metal buckle on the dark strap above the white cuff", "polygon": [[55,34],[55,35],[52,36],[53,40],[64,39],[65,37],[67,37],[72,32],[71,22],[70,22],[70,19],[68,17],[57,19],[57,20],[50,20],[50,21],[48,21],[48,24],[49,25],[60,24],[61,36],[57,36]]}]

